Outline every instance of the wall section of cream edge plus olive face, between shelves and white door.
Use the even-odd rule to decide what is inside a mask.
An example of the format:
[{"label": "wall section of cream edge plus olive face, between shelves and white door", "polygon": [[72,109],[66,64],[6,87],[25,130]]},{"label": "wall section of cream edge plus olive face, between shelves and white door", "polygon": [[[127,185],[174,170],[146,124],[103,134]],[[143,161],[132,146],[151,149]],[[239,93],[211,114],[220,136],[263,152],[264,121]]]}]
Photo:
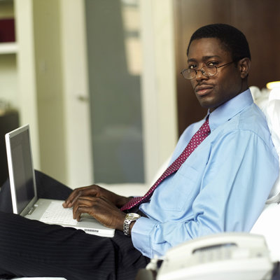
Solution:
[{"label": "wall section of cream edge plus olive face, between shelves and white door", "polygon": [[15,0],[20,125],[29,123],[34,167],[66,183],[59,2]]}]

